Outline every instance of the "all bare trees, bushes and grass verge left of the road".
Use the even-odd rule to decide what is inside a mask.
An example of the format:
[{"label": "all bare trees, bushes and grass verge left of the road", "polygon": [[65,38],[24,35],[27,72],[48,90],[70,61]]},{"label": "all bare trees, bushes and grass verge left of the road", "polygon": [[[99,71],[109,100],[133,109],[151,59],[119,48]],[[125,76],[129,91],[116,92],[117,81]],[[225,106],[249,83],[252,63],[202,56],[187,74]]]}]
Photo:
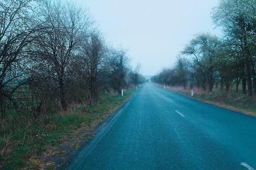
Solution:
[{"label": "all bare trees, bushes and grass verge left of the road", "polygon": [[145,81],[140,72],[125,47],[105,40],[86,7],[1,0],[0,170],[40,169],[40,155],[65,152],[52,148],[121,105],[121,90]]}]

